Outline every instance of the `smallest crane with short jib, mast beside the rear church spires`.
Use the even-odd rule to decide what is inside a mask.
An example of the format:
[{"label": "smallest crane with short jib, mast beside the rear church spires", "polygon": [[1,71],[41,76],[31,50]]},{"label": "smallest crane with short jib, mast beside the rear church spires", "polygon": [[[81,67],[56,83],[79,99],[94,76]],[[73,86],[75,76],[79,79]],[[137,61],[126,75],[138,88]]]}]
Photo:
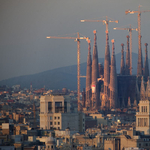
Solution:
[{"label": "smallest crane with short jib, mast beside the rear church spires", "polygon": [[119,27],[116,27],[114,28],[114,30],[128,30],[129,31],[129,36],[130,36],[130,75],[132,75],[132,30],[136,30],[138,31],[138,28],[131,28],[131,25],[130,27],[128,28],[119,28]]}]

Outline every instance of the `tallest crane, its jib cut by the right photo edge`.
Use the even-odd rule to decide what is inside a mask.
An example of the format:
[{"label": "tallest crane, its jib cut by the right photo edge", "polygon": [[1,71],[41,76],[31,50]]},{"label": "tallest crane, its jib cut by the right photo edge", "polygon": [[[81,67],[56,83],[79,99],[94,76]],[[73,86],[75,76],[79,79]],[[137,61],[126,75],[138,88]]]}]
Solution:
[{"label": "tallest crane, its jib cut by the right photo edge", "polygon": [[[134,13],[138,13],[138,45],[139,45],[139,53],[140,55],[142,54],[142,51],[141,51],[141,13],[143,12],[150,12],[150,10],[144,10],[144,11],[141,11],[140,10],[140,5],[138,7],[138,10],[137,11],[130,11],[130,10],[126,10],[125,11],[125,14],[134,14]],[[141,56],[142,58],[142,56]],[[143,67],[143,66],[142,66]],[[141,68],[142,70],[143,68]],[[139,71],[137,73],[138,75],[140,74]],[[142,74],[141,74],[142,75]]]}]

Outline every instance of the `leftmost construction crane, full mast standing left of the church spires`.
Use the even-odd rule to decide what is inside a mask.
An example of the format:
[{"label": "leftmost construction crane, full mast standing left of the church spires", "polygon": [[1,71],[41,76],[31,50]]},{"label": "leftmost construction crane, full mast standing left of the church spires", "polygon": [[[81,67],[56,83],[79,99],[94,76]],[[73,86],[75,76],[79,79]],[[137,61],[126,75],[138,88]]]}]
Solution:
[{"label": "leftmost construction crane, full mast standing left of the church spires", "polygon": [[78,111],[81,111],[80,106],[80,40],[85,39],[88,41],[88,37],[80,37],[77,32],[77,37],[57,37],[57,36],[47,36],[46,38],[50,39],[73,39],[77,42],[77,94],[78,94]]}]

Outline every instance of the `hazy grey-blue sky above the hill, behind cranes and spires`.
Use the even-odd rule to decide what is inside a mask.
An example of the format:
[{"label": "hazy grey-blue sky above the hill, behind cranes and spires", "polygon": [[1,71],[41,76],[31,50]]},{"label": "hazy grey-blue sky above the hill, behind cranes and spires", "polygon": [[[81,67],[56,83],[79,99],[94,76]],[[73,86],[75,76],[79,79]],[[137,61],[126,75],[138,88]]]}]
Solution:
[{"label": "hazy grey-blue sky above the hill, behind cranes and spires", "polygon": [[[139,4],[141,10],[150,9],[150,0],[0,0],[0,80],[77,64],[74,40],[46,39],[46,36],[72,36],[79,32],[90,37],[93,47],[96,29],[98,55],[104,57],[105,25],[81,23],[81,19],[103,20],[108,16],[119,20],[118,24],[109,24],[109,38],[115,39],[115,52],[119,53],[128,32],[113,28],[129,24],[137,28],[137,14],[125,15],[125,10],[138,10]],[[150,45],[150,12],[142,13],[141,21],[144,56],[144,43]],[[87,51],[87,42],[82,40],[81,62],[86,61]],[[133,31],[133,52],[138,52],[136,31]]]}]

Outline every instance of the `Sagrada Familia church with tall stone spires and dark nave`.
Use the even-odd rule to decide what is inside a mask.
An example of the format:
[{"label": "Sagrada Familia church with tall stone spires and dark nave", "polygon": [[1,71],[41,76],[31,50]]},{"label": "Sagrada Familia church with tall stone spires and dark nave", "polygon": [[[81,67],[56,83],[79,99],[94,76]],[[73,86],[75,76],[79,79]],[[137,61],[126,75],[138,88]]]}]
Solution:
[{"label": "Sagrada Familia church with tall stone spires and dark nave", "polygon": [[143,68],[142,50],[138,51],[137,75],[132,75],[130,61],[129,36],[127,36],[126,59],[124,61],[124,44],[121,44],[120,73],[116,72],[115,46],[112,40],[110,58],[109,36],[106,31],[104,66],[98,63],[96,30],[94,33],[93,59],[88,42],[86,90],[83,107],[89,110],[125,108],[136,106],[140,99],[150,94],[147,43],[145,43],[145,62]]}]

